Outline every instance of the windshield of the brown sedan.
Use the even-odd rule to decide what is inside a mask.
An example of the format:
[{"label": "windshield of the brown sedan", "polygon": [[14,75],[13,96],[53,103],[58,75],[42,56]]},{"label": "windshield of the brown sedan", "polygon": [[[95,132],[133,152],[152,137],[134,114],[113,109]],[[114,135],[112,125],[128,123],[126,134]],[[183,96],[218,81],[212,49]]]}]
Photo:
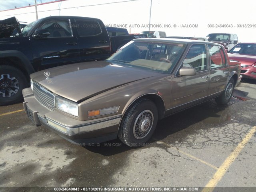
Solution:
[{"label": "windshield of the brown sedan", "polygon": [[131,41],[107,60],[160,73],[170,73],[182,56],[186,44]]}]

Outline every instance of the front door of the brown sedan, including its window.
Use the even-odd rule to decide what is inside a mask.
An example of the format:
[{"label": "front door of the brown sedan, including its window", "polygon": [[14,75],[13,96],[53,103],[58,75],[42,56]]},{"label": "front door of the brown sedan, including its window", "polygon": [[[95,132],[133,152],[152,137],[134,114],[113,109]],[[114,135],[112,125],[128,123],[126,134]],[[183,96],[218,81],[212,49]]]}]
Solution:
[{"label": "front door of the brown sedan, including its window", "polygon": [[172,112],[198,104],[207,97],[209,67],[205,44],[190,47],[181,67],[196,69],[194,76],[176,76],[172,80]]}]

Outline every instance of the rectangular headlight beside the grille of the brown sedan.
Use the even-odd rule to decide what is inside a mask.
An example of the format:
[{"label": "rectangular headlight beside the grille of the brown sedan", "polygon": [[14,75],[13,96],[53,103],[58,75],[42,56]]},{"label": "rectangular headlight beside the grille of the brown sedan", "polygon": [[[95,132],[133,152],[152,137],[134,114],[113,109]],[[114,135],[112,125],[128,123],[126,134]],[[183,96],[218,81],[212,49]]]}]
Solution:
[{"label": "rectangular headlight beside the grille of the brown sedan", "polygon": [[55,106],[59,110],[78,117],[78,104],[67,99],[56,97]]}]

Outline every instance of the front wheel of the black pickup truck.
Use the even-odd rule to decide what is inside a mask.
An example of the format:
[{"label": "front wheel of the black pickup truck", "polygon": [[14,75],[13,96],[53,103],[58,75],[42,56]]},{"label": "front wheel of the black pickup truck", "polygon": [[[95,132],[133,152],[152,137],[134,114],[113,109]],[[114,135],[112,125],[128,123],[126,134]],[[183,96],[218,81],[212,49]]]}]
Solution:
[{"label": "front wheel of the black pickup truck", "polygon": [[12,66],[0,66],[0,106],[22,100],[22,89],[26,85],[26,77],[20,70]]}]

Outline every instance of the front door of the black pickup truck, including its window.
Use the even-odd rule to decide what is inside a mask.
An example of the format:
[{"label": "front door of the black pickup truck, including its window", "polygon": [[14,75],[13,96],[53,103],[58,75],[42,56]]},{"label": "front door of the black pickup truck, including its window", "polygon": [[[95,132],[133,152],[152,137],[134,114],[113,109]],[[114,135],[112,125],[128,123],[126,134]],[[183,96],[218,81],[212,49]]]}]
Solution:
[{"label": "front door of the black pickup truck, including its window", "polygon": [[50,35],[45,38],[30,37],[32,62],[34,66],[39,66],[37,70],[80,62],[78,41],[68,18],[46,20],[38,28],[47,29]]}]

